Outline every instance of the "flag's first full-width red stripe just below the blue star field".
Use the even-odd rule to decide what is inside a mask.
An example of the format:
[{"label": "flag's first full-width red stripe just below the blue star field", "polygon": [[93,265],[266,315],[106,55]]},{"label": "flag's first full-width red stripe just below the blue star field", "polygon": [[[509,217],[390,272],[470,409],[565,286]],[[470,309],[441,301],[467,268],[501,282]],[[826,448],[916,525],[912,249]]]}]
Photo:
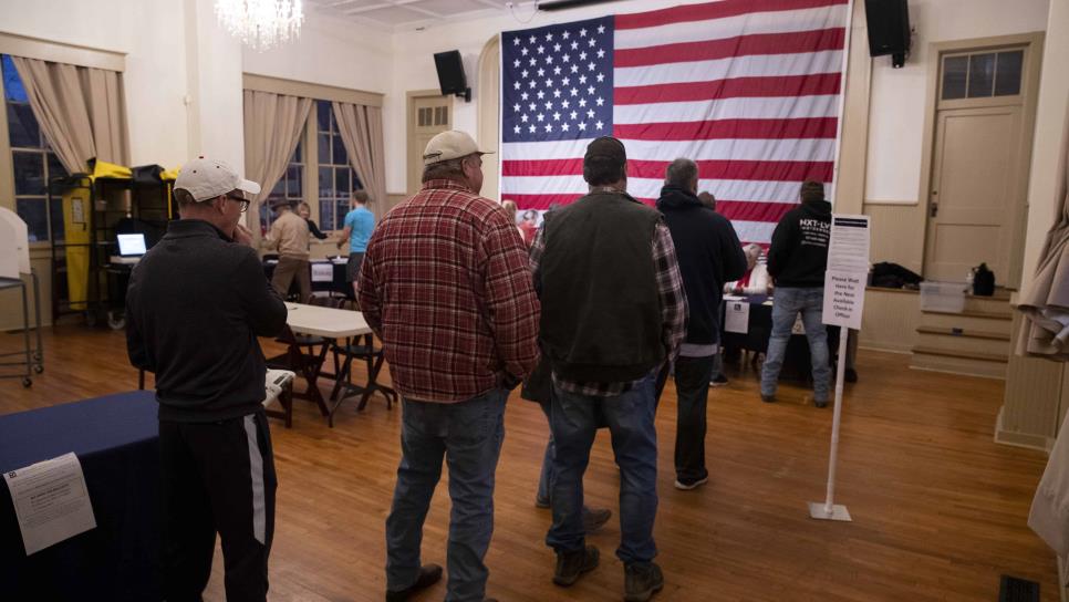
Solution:
[{"label": "flag's first full-width red stripe just below the blue star field", "polygon": [[[667,160],[629,160],[627,175],[633,178],[663,178]],[[698,160],[704,179],[739,179],[756,181],[831,181],[831,162],[805,160]],[[505,160],[502,176],[578,176],[583,159]]]}]

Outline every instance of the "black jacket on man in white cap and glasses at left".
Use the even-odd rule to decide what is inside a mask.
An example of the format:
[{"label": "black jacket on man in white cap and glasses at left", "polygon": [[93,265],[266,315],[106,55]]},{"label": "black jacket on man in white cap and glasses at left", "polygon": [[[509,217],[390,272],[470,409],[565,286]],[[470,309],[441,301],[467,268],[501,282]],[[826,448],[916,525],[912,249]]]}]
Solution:
[{"label": "black jacket on man in white cap and glasses at left", "polygon": [[159,419],[214,422],[262,408],[257,336],[286,324],[286,304],[251,247],[207,221],[173,221],[134,268],[126,292],[131,363],[156,374]]}]

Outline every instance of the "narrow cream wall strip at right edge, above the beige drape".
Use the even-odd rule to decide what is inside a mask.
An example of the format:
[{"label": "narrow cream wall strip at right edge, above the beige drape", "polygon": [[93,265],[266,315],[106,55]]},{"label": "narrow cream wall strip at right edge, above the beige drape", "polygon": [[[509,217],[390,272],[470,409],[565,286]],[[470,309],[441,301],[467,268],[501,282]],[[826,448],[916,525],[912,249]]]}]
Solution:
[{"label": "narrow cream wall strip at right edge, above the beige drape", "polygon": [[1025,239],[1023,288],[1031,282],[1047,230],[1061,211],[1063,190],[1058,181],[1066,168],[1066,139],[1069,127],[1069,2],[1050,3],[1044,68],[1039,80],[1039,104],[1036,107],[1036,139],[1028,186],[1028,230]]}]

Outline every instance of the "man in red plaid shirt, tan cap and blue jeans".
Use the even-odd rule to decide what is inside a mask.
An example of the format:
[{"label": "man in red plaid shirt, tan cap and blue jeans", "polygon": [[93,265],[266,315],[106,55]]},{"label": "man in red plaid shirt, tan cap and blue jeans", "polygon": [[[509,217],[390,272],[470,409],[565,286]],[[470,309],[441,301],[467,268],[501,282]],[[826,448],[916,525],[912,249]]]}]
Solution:
[{"label": "man in red plaid shirt, tan cap and blue jeans", "polygon": [[421,565],[423,521],[449,463],[447,601],[482,602],[505,401],[538,360],[539,302],[513,217],[479,196],[484,153],[463,132],[427,144],[423,189],[367,243],[357,298],[404,398],[401,466],[386,519],[386,600],[442,575]]}]

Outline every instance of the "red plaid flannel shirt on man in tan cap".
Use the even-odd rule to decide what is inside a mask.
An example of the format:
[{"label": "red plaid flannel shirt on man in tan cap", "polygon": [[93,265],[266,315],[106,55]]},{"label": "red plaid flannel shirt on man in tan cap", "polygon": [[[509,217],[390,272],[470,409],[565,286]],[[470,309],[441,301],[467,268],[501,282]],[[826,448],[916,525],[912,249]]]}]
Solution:
[{"label": "red plaid flannel shirt on man in tan cap", "polygon": [[498,204],[459,183],[427,181],[383,218],[357,298],[405,397],[461,402],[538,361],[527,246]]}]

